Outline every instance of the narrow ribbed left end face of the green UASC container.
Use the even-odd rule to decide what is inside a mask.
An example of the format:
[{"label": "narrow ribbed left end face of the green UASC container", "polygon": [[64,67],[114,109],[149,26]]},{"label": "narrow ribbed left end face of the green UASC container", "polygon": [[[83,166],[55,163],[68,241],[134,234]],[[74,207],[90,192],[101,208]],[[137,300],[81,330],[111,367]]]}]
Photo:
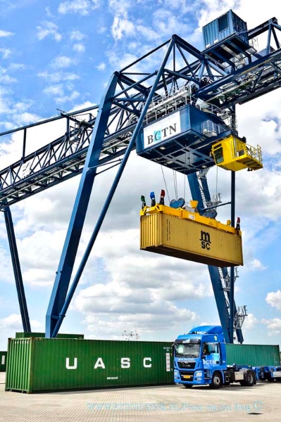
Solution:
[{"label": "narrow ribbed left end face of the green UASC container", "polygon": [[8,339],[6,390],[29,392],[31,348],[32,342],[30,338]]}]

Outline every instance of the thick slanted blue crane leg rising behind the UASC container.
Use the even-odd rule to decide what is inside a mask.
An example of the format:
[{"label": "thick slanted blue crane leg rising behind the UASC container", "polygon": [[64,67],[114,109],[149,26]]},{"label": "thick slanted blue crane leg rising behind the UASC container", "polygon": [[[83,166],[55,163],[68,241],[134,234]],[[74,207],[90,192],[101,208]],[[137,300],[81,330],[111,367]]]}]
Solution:
[{"label": "thick slanted blue crane leg rising behind the UASC container", "polygon": [[96,176],[96,169],[99,162],[101,147],[104,142],[104,134],[108,123],[108,117],[111,111],[112,100],[111,97],[115,94],[116,84],[118,82],[118,73],[115,72],[111,77],[106,93],[101,99],[99,106],[99,113],[96,117],[92,139],[89,143],[87,151],[87,158],[82,171],[80,184],[77,190],[73,212],[70,217],[68,232],[65,237],[61,260],[58,264],[58,271],[56,272],[56,279],[51,293],[49,307],[46,313],[46,338],[53,337],[56,322],[61,313],[66,294],[68,293],[68,286],[70,277],[73,271],[73,265],[77,254],[82,228],[85,222],[89,198],[91,196],[94,178]]}]

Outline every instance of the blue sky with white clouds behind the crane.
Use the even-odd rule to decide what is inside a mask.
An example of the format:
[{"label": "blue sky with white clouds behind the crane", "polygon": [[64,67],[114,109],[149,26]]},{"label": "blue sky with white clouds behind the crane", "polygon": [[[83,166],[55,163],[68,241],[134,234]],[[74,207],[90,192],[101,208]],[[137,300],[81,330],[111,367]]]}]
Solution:
[{"label": "blue sky with white clouds behind the crane", "polygon": [[[254,13],[249,3],[0,0],[0,131],[58,115],[57,108],[68,111],[99,103],[113,71],[174,33],[203,49],[201,26],[230,8],[249,28],[273,16],[281,22],[277,0],[268,0]],[[263,170],[237,173],[245,264],[239,269],[235,299],[249,312],[245,343],[280,343],[280,110],[280,90],[237,107],[239,134],[261,145],[264,158]],[[61,122],[39,127],[27,140],[27,149],[34,151],[63,130]],[[20,136],[0,139],[1,168],[20,155]],[[114,172],[96,181],[78,262]],[[173,173],[167,170],[166,179],[173,196]],[[211,169],[211,193],[216,193],[216,179],[217,171]],[[78,183],[79,177],[11,207],[33,331],[44,331]],[[183,177],[178,184],[183,192]],[[136,329],[142,340],[173,340],[191,326],[218,324],[206,266],[139,251],[139,198],[161,188],[161,169],[132,153],[61,332],[122,338],[124,330]],[[224,202],[230,200],[230,174],[224,170],[218,171],[218,191]],[[225,207],[218,219],[225,222],[229,215]],[[21,326],[3,215],[0,253],[0,350],[5,350],[7,338]]]}]

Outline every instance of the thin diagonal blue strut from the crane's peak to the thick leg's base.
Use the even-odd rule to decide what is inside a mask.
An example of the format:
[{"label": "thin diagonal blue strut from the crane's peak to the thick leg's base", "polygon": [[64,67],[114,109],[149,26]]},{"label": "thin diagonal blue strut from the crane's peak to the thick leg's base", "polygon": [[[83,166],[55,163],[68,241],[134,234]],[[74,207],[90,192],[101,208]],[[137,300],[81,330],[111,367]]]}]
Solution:
[{"label": "thin diagonal blue strut from the crane's peak to the thick leg's base", "polygon": [[[146,115],[146,111],[149,108],[149,103],[151,103],[151,100],[152,100],[152,98],[154,96],[154,92],[156,90],[156,87],[158,85],[158,82],[159,82],[160,78],[163,75],[163,71],[164,71],[165,65],[167,63],[168,57],[170,56],[170,52],[172,51],[174,44],[175,44],[175,37],[172,37],[172,39],[170,41],[170,44],[168,46],[168,50],[166,51],[166,54],[165,54],[165,56],[163,58],[163,61],[161,63],[161,67],[159,68],[159,70],[158,70],[158,72],[156,74],[156,78],[155,78],[154,84],[152,85],[151,90],[149,91],[149,95],[148,95],[148,97],[146,99],[146,102],[144,103],[144,108],[142,109],[142,113],[141,113],[141,115],[139,117],[139,120],[137,122],[137,125],[135,127],[135,130],[134,130],[134,132],[132,134],[132,138],[130,139],[130,143],[127,146],[127,149],[126,149],[125,155],[123,157],[123,160],[122,160],[122,162],[120,164],[120,167],[119,167],[118,172],[117,172],[117,174],[115,176],[115,179],[113,181],[113,184],[111,186],[111,189],[110,189],[110,191],[108,193],[108,196],[106,198],[106,202],[104,203],[104,207],[101,210],[101,215],[99,216],[99,219],[96,222],[96,226],[95,226],[94,232],[93,232],[93,234],[92,234],[92,236],[90,238],[89,244],[87,245],[87,249],[86,249],[85,254],[84,254],[83,258],[82,258],[82,262],[80,263],[80,267],[77,270],[77,274],[76,274],[76,276],[75,276],[75,278],[73,280],[72,286],[70,286],[70,289],[69,289],[69,292],[68,292],[68,296],[66,297],[67,290],[65,290],[64,291],[65,295],[64,295],[64,298],[63,298],[63,305],[57,310],[57,313],[56,313],[55,316],[54,315],[53,316],[51,315],[51,307],[50,307],[51,302],[50,302],[49,309],[48,309],[49,314],[47,314],[47,316],[46,316],[46,337],[47,336],[49,336],[49,337],[55,337],[56,334],[58,333],[59,328],[61,327],[61,324],[62,324],[63,318],[65,316],[65,313],[66,313],[66,311],[68,309],[68,306],[70,305],[70,301],[73,298],[73,295],[75,293],[75,289],[76,289],[77,284],[78,284],[78,282],[80,280],[80,277],[82,275],[82,271],[85,268],[85,264],[87,262],[87,259],[89,257],[89,254],[90,254],[90,252],[92,250],[92,247],[94,245],[94,242],[96,241],[96,236],[99,234],[99,230],[101,228],[101,224],[104,222],[104,217],[106,216],[106,212],[108,210],[108,207],[111,204],[111,200],[112,200],[113,195],[115,193],[115,190],[116,190],[116,188],[118,186],[118,182],[120,180],[120,177],[122,176],[123,170],[124,170],[125,165],[127,163],[127,159],[129,158],[129,155],[130,155],[130,152],[132,151],[132,148],[135,146],[135,141],[137,139],[137,135],[139,134],[139,129],[142,127],[142,122],[143,122],[144,117]],[[112,94],[111,94],[111,96],[112,96]],[[109,113],[108,113],[108,116],[109,116]],[[94,129],[95,128],[96,128],[96,124],[94,126]],[[104,130],[105,130],[105,128],[104,128]],[[104,132],[103,132],[103,134],[104,134]],[[93,132],[93,135],[94,135],[94,132]],[[90,147],[91,147],[91,145],[89,146],[89,148]],[[87,159],[86,159],[85,165],[86,164],[87,164]],[[85,172],[85,169],[83,170],[82,177],[83,177],[84,172]],[[73,264],[74,264],[74,260],[73,260],[72,265]],[[71,270],[72,270],[72,268],[73,267],[71,267]],[[70,277],[68,278],[68,285],[69,285],[69,281],[70,281]],[[68,287],[68,285],[67,285],[67,287]],[[66,297],[66,299],[65,299],[65,297]],[[51,319],[51,317],[52,317],[52,319]]]}]

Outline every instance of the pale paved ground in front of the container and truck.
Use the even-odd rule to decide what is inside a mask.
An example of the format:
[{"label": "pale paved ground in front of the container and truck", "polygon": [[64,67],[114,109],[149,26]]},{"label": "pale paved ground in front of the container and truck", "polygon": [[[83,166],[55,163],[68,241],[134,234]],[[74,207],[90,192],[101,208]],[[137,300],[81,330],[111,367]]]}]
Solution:
[{"label": "pale paved ground in front of the container and truck", "polygon": [[280,421],[281,383],[220,390],[179,385],[27,395],[5,392],[0,372],[0,421],[179,422]]}]

